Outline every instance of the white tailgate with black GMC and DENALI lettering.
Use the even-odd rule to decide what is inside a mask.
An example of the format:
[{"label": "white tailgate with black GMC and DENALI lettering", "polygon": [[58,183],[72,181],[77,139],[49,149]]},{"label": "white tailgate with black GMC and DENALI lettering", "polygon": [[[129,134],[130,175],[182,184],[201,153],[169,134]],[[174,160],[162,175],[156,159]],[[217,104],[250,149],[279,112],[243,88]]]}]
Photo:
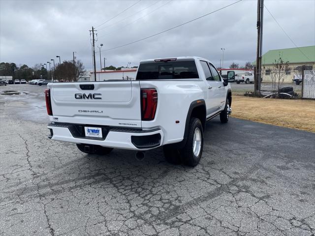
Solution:
[{"label": "white tailgate with black GMC and DENALI lettering", "polygon": [[141,128],[139,81],[52,83],[53,120]]}]

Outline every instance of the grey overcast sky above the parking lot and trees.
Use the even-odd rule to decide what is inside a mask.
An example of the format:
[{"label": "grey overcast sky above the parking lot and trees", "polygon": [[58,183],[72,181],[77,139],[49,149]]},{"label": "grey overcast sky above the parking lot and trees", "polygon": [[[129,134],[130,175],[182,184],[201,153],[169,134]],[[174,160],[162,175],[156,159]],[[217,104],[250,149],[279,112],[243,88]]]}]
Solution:
[{"label": "grey overcast sky above the parking lot and trees", "polygon": [[[92,26],[97,30],[95,48],[102,43],[102,50],[107,50],[235,1],[0,0],[0,61],[33,66],[57,59],[57,55],[62,60],[70,60],[75,51],[76,58],[91,70],[89,29]],[[315,0],[265,0],[264,3],[297,46],[315,45]],[[131,62],[131,66],[138,65],[141,59],[199,56],[220,66],[221,48],[225,48],[224,67],[232,62],[243,65],[255,60],[256,9],[257,0],[243,0],[144,41],[103,51],[102,65],[103,57],[106,57],[106,66],[118,67],[126,66],[127,62]],[[263,53],[294,47],[266,9],[263,33]],[[96,69],[99,68],[97,53]]]}]

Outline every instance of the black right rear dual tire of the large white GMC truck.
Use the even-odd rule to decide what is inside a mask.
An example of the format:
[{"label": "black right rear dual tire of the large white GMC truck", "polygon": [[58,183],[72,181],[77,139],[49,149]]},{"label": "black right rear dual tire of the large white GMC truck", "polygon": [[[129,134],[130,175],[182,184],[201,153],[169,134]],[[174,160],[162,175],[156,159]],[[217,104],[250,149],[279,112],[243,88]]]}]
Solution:
[{"label": "black right rear dual tire of the large white GMC truck", "polygon": [[[194,151],[193,151],[193,140],[194,140],[194,135],[195,132],[200,132],[200,146],[196,145],[196,147],[199,147],[197,149],[199,149],[199,152],[197,152],[198,154],[195,155]],[[182,156],[182,161],[185,165],[187,166],[191,166],[194,167],[196,166],[199,161],[200,158],[202,156],[202,149],[203,149],[203,128],[202,128],[202,123],[200,121],[200,119],[198,118],[190,118],[189,121],[189,127],[188,127],[188,135],[187,135],[187,141],[186,144],[184,146],[184,148],[182,148],[180,150],[181,156]]]}]

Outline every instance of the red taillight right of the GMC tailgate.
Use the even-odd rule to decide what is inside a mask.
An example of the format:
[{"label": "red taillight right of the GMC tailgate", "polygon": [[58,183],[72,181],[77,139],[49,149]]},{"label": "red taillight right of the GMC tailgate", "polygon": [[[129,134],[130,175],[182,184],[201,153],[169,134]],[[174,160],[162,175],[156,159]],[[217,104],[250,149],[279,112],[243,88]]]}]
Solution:
[{"label": "red taillight right of the GMC tailgate", "polygon": [[153,120],[158,106],[158,92],[156,89],[141,89],[141,119]]}]

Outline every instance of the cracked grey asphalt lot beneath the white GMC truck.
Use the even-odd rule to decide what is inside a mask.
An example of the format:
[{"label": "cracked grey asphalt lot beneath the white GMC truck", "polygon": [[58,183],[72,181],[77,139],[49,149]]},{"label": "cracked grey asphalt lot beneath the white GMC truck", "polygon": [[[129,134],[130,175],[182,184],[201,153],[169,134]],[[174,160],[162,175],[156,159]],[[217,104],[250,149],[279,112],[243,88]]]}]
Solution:
[{"label": "cracked grey asphalt lot beneath the white GMC truck", "polygon": [[[315,234],[314,133],[230,118],[207,123],[195,168],[47,137],[45,86],[0,95],[0,235]],[[233,107],[233,103],[232,103]]]}]

